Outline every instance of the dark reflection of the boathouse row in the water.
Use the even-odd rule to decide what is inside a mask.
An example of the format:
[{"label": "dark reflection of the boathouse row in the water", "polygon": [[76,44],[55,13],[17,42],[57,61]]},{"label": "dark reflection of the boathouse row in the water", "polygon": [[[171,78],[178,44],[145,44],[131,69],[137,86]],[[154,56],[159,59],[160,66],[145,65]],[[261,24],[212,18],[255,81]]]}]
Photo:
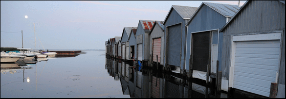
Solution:
[{"label": "dark reflection of the boathouse row in the water", "polygon": [[[137,71],[133,63],[106,58],[110,76],[120,80],[122,94],[131,98],[220,98],[215,87],[205,85],[205,81],[190,81],[152,69]],[[225,94],[223,94],[225,95]],[[226,98],[227,96],[222,96]]]}]

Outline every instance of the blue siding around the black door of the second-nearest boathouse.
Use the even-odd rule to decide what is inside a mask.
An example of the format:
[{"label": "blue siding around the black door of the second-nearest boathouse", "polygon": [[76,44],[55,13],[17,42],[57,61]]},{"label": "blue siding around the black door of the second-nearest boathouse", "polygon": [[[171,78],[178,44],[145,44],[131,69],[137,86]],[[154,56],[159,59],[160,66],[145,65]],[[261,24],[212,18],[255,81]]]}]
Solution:
[{"label": "blue siding around the black door of the second-nearest boathouse", "polygon": [[[188,27],[187,48],[186,48],[186,69],[187,70],[189,70],[189,66],[190,66],[189,63],[190,63],[190,55],[191,55],[190,54],[191,33],[213,30],[213,29],[220,29],[225,25],[225,21],[226,21],[226,17],[222,16],[217,11],[214,11],[212,8],[206,5],[201,6],[198,13],[192,18],[192,21],[190,21],[189,25],[187,26]],[[219,40],[219,43],[222,43],[222,40]],[[218,59],[220,57],[221,55],[219,55]]]}]

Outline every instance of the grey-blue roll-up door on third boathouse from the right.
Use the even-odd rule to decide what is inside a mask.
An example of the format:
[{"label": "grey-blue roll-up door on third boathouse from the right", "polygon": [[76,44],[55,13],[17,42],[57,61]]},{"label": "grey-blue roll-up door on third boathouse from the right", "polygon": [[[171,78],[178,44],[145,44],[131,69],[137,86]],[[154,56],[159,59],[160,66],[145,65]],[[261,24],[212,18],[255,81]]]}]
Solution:
[{"label": "grey-blue roll-up door on third boathouse from the right", "polygon": [[168,27],[168,65],[180,66],[181,24]]}]

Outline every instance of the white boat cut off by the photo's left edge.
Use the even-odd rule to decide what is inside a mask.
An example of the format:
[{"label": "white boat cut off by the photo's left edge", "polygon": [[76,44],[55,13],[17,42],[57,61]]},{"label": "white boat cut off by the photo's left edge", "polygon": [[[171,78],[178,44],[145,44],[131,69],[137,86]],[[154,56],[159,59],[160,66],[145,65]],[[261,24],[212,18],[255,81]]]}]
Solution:
[{"label": "white boat cut off by the photo's left edge", "polygon": [[1,62],[16,62],[20,58],[24,56],[13,55],[12,52],[5,53],[4,51],[1,52]]}]

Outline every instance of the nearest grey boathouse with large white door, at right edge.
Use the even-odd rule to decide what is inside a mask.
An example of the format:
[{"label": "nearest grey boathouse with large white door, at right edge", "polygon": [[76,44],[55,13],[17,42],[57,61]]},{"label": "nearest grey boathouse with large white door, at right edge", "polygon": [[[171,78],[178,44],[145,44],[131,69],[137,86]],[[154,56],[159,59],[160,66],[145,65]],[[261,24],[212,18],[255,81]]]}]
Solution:
[{"label": "nearest grey boathouse with large white door, at right edge", "polygon": [[220,32],[221,87],[285,98],[285,1],[246,1]]}]

